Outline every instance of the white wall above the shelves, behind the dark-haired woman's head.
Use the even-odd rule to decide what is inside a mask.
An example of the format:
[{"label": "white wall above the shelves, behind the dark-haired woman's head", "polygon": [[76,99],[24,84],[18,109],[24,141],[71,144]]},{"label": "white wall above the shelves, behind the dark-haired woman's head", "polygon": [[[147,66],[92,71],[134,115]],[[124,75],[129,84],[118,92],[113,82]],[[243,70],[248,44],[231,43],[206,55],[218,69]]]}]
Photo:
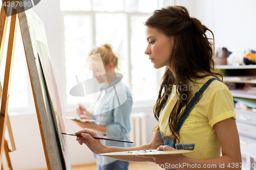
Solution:
[{"label": "white wall above the shelves, behind the dark-haired woman's head", "polygon": [[165,5],[185,6],[215,36],[216,48],[233,53],[256,50],[256,1],[253,0],[172,0]]}]

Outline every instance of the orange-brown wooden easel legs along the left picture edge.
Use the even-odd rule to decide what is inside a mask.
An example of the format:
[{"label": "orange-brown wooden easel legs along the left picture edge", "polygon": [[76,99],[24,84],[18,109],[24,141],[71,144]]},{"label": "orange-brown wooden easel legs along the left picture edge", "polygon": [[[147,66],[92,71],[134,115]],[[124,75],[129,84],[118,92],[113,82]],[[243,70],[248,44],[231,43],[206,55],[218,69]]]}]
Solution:
[{"label": "orange-brown wooden easel legs along the left picture edge", "polygon": [[[4,3],[4,1],[3,1]],[[6,17],[6,13],[10,11],[10,7],[1,8],[0,13],[0,24],[3,26],[1,27],[1,36],[0,36],[0,64],[2,61],[3,51],[4,51],[4,42],[5,36],[8,26],[9,17]],[[5,156],[7,159],[7,166],[9,169],[12,169],[11,160],[9,156],[9,148],[7,141],[5,140],[5,131],[6,126],[8,126],[8,130],[11,131],[10,122],[8,118],[8,102],[9,102],[9,93],[10,93],[10,83],[11,83],[11,72],[12,72],[12,65],[13,65],[13,56],[14,56],[14,49],[15,49],[15,40],[16,40],[16,32],[17,32],[17,19],[16,19],[17,11],[12,9],[11,16],[11,25],[10,25],[10,34],[9,34],[9,41],[8,41],[8,50],[7,50],[7,60],[6,60],[6,70],[5,70],[5,78],[4,78],[4,87],[2,91],[2,86],[0,84],[0,93],[2,94],[1,99],[1,114],[0,114],[0,166],[2,166],[2,158],[3,158],[3,151],[5,150]],[[12,135],[11,135],[12,137]],[[14,145],[15,147],[15,145]],[[14,149],[15,150],[15,149]],[[1,168],[3,169],[3,167]]]}]

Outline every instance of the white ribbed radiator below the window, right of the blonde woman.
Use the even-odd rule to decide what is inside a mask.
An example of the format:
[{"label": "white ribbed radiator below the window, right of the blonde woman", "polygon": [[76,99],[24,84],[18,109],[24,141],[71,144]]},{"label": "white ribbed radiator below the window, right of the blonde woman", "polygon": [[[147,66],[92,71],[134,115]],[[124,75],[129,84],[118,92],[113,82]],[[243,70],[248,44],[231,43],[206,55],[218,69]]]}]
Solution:
[{"label": "white ribbed radiator below the window, right of the blonde woman", "polygon": [[151,131],[158,125],[153,113],[132,113],[130,123],[131,132],[129,138],[134,142],[135,147],[151,142],[154,136]]}]

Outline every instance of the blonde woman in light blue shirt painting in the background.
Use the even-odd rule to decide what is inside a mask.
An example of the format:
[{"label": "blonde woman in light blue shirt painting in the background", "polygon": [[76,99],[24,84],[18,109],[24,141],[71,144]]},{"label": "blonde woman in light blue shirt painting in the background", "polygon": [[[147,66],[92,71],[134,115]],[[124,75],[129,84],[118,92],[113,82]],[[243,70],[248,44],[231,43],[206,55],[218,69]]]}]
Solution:
[{"label": "blonde woman in light blue shirt painting in the background", "polygon": [[[127,134],[131,130],[130,114],[133,100],[129,89],[115,74],[115,69],[118,68],[118,58],[113,53],[112,46],[104,44],[93,48],[87,61],[93,71],[93,77],[100,85],[103,85],[98,100],[92,108],[92,113],[80,104],[77,106],[76,112],[78,113],[80,109],[81,118],[93,118],[96,119],[96,122],[74,121],[83,129],[96,131],[99,137],[129,140]],[[133,147],[132,143],[110,140],[101,140],[101,142],[108,147]],[[95,156],[99,170],[128,169],[129,167],[129,162],[126,161]]]}]

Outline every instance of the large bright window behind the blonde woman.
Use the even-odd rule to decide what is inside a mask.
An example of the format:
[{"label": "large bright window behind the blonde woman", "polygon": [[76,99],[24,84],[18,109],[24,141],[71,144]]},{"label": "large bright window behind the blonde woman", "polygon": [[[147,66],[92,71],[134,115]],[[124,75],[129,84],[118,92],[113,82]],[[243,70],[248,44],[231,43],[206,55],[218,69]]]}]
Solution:
[{"label": "large bright window behind the blonde woman", "polygon": [[86,58],[92,47],[109,43],[119,57],[121,74],[132,91],[134,104],[155,102],[162,69],[154,69],[146,48],[143,21],[162,0],[60,0],[63,15],[67,106],[86,99],[71,96],[70,89],[92,77]]}]

